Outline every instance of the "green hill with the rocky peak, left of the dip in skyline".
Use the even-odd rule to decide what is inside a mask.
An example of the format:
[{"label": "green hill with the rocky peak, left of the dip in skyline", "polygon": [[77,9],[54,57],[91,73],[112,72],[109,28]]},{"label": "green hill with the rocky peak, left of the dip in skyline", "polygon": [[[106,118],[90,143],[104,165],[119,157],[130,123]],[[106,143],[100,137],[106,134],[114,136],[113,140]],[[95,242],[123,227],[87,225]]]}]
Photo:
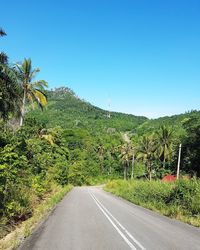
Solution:
[{"label": "green hill with the rocky peak, left of the dip in skyline", "polygon": [[96,131],[127,131],[136,129],[148,119],[144,116],[109,112],[81,100],[69,88],[47,92],[48,106],[43,112],[31,111],[27,117],[36,117],[47,127],[82,128]]}]

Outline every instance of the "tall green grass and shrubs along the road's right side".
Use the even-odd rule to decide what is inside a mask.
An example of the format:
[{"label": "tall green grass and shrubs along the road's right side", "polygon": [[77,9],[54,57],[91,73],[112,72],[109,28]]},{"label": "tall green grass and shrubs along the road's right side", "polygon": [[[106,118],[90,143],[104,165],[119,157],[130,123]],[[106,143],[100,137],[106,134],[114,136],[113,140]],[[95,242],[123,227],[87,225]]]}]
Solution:
[{"label": "tall green grass and shrubs along the road's right side", "polygon": [[115,180],[107,183],[104,189],[137,205],[200,226],[199,180],[174,183]]}]

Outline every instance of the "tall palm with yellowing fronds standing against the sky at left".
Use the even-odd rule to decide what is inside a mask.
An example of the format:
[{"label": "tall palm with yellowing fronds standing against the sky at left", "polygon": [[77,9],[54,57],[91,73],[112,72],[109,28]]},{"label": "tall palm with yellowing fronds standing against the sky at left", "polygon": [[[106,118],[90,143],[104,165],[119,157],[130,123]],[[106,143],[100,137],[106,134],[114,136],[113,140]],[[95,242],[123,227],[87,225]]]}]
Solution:
[{"label": "tall palm with yellowing fronds standing against the sky at left", "polygon": [[20,126],[23,124],[24,114],[25,114],[25,104],[26,100],[29,102],[37,103],[42,109],[43,106],[47,104],[47,97],[44,94],[44,87],[48,87],[47,82],[44,80],[39,80],[32,82],[33,78],[40,71],[39,68],[32,69],[31,59],[24,59],[21,64],[15,64],[20,75],[21,86],[23,89],[21,115],[20,115]]}]

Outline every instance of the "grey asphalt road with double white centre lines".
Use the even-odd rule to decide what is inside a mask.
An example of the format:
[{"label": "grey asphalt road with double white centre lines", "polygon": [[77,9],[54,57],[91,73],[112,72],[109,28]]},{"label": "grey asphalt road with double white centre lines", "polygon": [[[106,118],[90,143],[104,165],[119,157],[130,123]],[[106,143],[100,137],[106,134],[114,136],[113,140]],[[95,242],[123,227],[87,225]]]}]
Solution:
[{"label": "grey asphalt road with double white centre lines", "polygon": [[200,229],[107,194],[74,188],[19,250],[200,249]]}]

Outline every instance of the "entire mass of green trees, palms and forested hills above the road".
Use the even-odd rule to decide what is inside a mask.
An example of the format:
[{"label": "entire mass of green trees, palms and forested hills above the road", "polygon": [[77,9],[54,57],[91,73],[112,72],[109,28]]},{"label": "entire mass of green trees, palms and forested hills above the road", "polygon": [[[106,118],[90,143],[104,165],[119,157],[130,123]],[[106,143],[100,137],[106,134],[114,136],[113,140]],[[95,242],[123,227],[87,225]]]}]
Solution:
[{"label": "entire mass of green trees, palms and forested hills above the road", "polygon": [[[1,36],[6,33],[1,30]],[[200,112],[147,119],[102,110],[67,87],[35,81],[31,59],[0,54],[1,228],[31,216],[55,185],[200,176]],[[188,177],[188,178],[189,178]],[[4,233],[0,232],[0,235]]]}]

